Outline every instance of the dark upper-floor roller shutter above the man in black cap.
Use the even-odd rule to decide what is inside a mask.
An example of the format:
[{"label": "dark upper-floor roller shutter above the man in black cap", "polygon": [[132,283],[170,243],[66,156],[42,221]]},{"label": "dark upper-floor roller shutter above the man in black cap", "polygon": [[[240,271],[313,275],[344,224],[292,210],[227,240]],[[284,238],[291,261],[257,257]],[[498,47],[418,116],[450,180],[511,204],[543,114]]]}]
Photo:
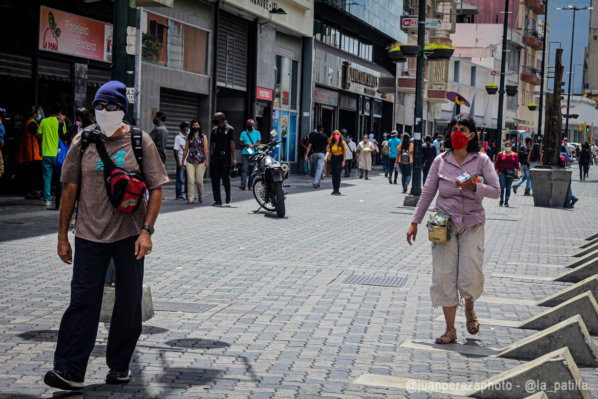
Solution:
[{"label": "dark upper-floor roller shutter above the man in black cap", "polygon": [[216,81],[233,89],[247,87],[248,20],[220,12]]}]

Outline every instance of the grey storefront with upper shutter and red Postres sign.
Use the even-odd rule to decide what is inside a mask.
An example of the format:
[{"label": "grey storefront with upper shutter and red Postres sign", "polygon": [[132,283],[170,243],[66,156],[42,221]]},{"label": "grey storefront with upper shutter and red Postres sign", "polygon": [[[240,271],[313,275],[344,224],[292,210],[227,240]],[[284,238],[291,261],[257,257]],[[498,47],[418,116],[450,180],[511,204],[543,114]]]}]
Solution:
[{"label": "grey storefront with upper shutter and red Postres sign", "polygon": [[311,86],[311,65],[303,63],[303,48],[313,33],[311,5],[303,0],[225,1],[217,14],[215,109],[227,116],[237,139],[250,118],[264,142],[276,130],[283,142],[273,156],[294,170],[298,142],[309,131],[301,118],[302,112],[309,118],[311,103],[302,94],[304,85]]}]

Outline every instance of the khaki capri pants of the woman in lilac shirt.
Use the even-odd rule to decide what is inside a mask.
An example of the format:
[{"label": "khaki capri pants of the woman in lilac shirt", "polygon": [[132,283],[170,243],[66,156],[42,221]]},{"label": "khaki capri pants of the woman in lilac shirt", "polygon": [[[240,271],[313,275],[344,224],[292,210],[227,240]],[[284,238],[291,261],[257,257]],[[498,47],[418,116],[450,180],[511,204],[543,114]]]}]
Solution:
[{"label": "khaki capri pants of the woman in lilac shirt", "polygon": [[484,225],[451,232],[446,243],[432,243],[432,306],[456,306],[463,299],[477,300],[484,291]]}]

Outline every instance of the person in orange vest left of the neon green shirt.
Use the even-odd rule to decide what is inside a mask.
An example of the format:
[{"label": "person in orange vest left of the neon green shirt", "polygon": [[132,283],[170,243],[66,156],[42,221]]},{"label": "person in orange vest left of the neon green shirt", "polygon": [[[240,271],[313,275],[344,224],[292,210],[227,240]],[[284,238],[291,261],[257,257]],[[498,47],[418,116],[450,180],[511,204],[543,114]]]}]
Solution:
[{"label": "person in orange vest left of the neon green shirt", "polygon": [[[19,142],[19,151],[17,152],[16,162],[25,164],[25,184],[23,185],[23,194],[25,199],[35,199],[36,179],[41,168],[41,151],[39,151],[39,141],[37,138],[39,120],[38,109],[33,106],[29,112],[29,119],[23,125],[23,133]],[[1,156],[1,155],[0,155]]]}]

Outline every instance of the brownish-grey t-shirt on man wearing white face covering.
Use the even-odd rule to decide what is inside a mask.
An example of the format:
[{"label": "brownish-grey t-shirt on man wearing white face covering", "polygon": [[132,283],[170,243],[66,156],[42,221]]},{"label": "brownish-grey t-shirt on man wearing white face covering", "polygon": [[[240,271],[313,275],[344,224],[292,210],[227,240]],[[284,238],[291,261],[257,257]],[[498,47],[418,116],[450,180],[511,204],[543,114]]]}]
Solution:
[{"label": "brownish-grey t-shirt on man wearing white face covering", "polygon": [[[118,137],[104,136],[102,142],[115,165],[124,167],[129,172],[141,172],[133,155],[130,131]],[[161,187],[169,181],[168,175],[154,143],[145,132],[142,147],[145,184],[148,190]],[[81,159],[81,133],[75,136],[66,154],[60,181],[81,183],[75,236],[94,242],[115,242],[141,232],[147,213],[147,200],[144,197],[139,208],[131,214],[118,211],[112,206],[106,193],[103,162],[96,145],[90,143]]]}]

